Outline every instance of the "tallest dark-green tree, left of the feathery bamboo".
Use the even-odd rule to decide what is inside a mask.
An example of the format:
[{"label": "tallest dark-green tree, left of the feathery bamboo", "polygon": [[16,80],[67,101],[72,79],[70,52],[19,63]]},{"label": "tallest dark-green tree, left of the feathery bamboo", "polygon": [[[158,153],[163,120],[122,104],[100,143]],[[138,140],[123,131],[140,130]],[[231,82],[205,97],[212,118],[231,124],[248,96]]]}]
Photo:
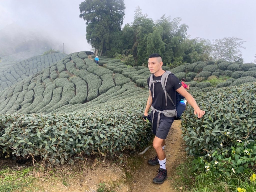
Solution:
[{"label": "tallest dark-green tree, left of the feathery bamboo", "polygon": [[124,18],[123,0],[86,0],[79,5],[80,18],[86,21],[86,39],[100,55],[110,49],[115,38],[112,34],[121,31]]}]

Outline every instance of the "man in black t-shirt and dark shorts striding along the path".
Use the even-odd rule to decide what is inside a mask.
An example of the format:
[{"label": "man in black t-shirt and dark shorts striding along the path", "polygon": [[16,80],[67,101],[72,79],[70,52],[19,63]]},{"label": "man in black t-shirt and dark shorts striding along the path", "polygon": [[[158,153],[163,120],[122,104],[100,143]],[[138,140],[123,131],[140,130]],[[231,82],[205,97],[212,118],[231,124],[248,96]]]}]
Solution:
[{"label": "man in black t-shirt and dark shorts striding along the path", "polygon": [[[167,78],[166,92],[169,94],[173,102],[170,102],[168,100],[166,106],[165,92],[161,85],[161,77],[165,73],[165,71],[162,69],[162,66],[162,57],[159,54],[152,54],[149,56],[148,68],[150,70],[150,73],[154,74],[153,80],[156,81],[149,90],[149,96],[144,112],[144,115],[148,116],[149,119],[151,119],[151,122],[153,120],[152,131],[153,134],[155,135],[153,140],[153,147],[156,151],[156,156],[149,159],[148,163],[150,165],[160,165],[158,173],[156,177],[153,179],[153,182],[158,184],[162,184],[167,179],[166,156],[164,152],[164,147],[165,139],[174,121],[174,117],[167,117],[163,113],[160,114],[159,119],[158,112],[175,109],[173,103],[176,103],[175,91],[177,91],[179,94],[185,97],[187,102],[194,108],[194,114],[198,115],[198,118],[201,118],[205,114],[205,111],[202,111],[198,107],[195,99],[182,87],[179,79],[176,76],[174,76],[174,74],[169,74]],[[147,79],[148,85],[150,84],[149,81],[150,78]],[[153,109],[158,111],[155,111],[154,116],[152,116],[152,113],[150,114],[151,116],[148,115],[148,110],[150,109],[150,107],[153,107]],[[157,125],[158,120],[159,124]]]}]

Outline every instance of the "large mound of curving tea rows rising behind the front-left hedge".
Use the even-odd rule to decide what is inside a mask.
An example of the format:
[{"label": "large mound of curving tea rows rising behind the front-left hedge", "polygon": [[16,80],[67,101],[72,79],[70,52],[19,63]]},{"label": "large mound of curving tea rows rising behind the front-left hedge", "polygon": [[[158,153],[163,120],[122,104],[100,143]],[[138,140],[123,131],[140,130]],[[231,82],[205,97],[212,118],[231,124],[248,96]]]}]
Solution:
[{"label": "large mound of curving tea rows rising behind the front-left hedge", "polygon": [[86,103],[130,81],[77,52],[1,91],[0,113],[51,112]]}]

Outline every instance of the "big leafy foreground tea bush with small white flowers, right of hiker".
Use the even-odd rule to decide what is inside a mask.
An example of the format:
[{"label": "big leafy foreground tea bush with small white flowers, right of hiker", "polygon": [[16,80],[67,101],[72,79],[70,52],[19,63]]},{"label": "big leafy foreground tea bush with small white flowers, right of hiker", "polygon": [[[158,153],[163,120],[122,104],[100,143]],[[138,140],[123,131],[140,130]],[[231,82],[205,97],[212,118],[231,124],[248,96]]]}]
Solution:
[{"label": "big leafy foreground tea bush with small white flowers, right of hiker", "polygon": [[[205,115],[188,106],[182,119],[186,151],[216,173],[250,172],[256,160],[256,83],[196,93]],[[204,162],[204,163],[202,163]],[[218,163],[216,163],[218,162]],[[218,165],[217,165],[218,164]]]}]

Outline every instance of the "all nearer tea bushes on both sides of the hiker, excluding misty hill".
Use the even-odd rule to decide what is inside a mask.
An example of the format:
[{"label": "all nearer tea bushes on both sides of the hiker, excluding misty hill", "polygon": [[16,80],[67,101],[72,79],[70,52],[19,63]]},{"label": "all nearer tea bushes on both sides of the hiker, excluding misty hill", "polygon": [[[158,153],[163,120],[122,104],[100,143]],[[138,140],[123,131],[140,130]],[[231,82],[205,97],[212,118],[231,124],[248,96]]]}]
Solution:
[{"label": "all nearer tea bushes on both sides of the hiker, excluding misty hill", "polygon": [[[197,62],[163,69],[190,81],[190,93],[206,111],[198,119],[188,105],[182,118],[194,163],[216,174],[249,173],[256,155],[255,65]],[[0,92],[2,154],[40,156],[58,165],[145,147],[152,136],[141,118],[149,76],[147,67],[119,59],[100,58],[97,65],[85,51],[31,73]]]}]

